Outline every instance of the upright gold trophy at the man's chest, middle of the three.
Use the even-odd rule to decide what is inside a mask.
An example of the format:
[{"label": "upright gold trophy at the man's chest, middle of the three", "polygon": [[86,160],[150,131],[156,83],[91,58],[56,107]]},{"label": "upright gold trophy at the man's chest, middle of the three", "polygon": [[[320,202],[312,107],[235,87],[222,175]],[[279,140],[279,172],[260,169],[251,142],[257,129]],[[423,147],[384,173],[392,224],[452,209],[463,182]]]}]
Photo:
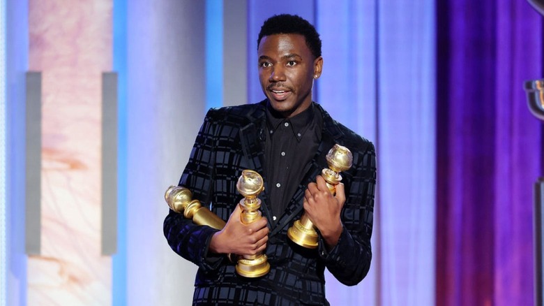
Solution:
[{"label": "upright gold trophy at the man's chest, middle of the three", "polygon": [[[264,182],[261,175],[253,170],[243,170],[236,189],[244,196],[241,206],[241,221],[250,224],[261,218],[261,200],[257,196],[264,190]],[[242,255],[236,264],[236,272],[244,277],[260,277],[270,270],[270,264],[266,261],[265,254]]]}]

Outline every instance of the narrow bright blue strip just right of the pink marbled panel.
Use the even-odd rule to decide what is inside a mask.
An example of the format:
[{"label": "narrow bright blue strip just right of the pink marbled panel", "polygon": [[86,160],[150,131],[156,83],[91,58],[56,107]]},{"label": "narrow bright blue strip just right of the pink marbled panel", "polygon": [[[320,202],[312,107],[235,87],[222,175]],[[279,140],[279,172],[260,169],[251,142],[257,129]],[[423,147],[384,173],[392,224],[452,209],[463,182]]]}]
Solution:
[{"label": "narrow bright blue strip just right of the pink marbled panel", "polygon": [[117,254],[112,258],[112,305],[126,305],[127,261],[127,0],[114,0],[113,66],[117,72]]}]

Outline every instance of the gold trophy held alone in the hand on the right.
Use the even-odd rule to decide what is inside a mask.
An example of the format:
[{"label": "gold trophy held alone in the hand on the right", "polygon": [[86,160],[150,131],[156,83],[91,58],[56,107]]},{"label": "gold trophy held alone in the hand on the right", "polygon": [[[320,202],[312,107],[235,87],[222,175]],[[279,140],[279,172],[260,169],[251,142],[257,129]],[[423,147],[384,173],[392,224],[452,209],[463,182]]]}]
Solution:
[{"label": "gold trophy held alone in the hand on the right", "polygon": [[[328,151],[326,160],[328,168],[322,170],[321,176],[327,183],[328,190],[331,191],[331,194],[335,195],[336,185],[342,180],[340,172],[352,168],[352,152],[349,152],[347,147],[337,144]],[[294,221],[293,226],[287,230],[287,237],[297,245],[307,247],[308,249],[317,248],[317,242],[319,241],[319,235],[315,231],[315,226],[305,213],[302,214],[300,220]]]}]

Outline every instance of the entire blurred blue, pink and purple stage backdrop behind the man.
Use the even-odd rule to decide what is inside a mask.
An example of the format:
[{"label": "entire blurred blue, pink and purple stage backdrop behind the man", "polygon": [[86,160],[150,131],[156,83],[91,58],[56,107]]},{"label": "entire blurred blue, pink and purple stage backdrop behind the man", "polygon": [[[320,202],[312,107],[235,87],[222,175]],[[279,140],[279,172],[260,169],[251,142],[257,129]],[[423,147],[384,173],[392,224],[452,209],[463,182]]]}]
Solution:
[{"label": "entire blurred blue, pink and purple stage backdrop behind the man", "polygon": [[[164,192],[206,110],[264,99],[301,15],[314,100],[377,147],[373,260],[331,305],[534,305],[543,19],[527,1],[0,0],[0,305],[190,305]],[[539,264],[540,266],[540,264]]]}]

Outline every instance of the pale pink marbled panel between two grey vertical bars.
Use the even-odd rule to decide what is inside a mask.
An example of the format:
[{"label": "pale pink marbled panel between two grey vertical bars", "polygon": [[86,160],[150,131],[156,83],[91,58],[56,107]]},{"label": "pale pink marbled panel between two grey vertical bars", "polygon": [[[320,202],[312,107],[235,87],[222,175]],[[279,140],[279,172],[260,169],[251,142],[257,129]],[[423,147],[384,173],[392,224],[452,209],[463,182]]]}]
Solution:
[{"label": "pale pink marbled panel between two grey vertical bars", "polygon": [[[112,0],[29,0],[29,67],[42,71],[40,256],[29,305],[108,305],[100,256],[101,73],[112,70]],[[36,187],[40,188],[40,187]]]}]

